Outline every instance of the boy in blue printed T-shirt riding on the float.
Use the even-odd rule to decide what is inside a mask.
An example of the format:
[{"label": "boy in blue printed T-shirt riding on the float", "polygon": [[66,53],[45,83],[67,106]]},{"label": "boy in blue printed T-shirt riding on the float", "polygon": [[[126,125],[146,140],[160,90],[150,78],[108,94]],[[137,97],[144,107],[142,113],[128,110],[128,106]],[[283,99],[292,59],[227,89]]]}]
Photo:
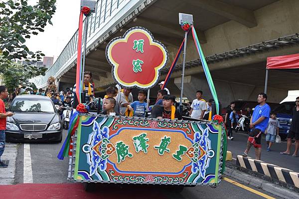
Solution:
[{"label": "boy in blue printed T-shirt riding on the float", "polygon": [[147,98],[147,93],[144,90],[140,90],[138,92],[138,100],[127,107],[129,108],[130,111],[134,111],[133,117],[140,117],[144,118],[146,115],[146,110],[147,110],[147,103],[145,102],[145,99]]}]

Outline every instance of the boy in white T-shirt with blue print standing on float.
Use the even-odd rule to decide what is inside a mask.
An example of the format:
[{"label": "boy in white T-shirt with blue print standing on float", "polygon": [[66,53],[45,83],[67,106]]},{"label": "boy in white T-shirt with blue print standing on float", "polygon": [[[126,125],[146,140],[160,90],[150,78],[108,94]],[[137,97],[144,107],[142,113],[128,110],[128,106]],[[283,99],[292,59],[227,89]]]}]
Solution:
[{"label": "boy in white T-shirt with blue print standing on float", "polygon": [[206,101],[202,99],[202,91],[196,91],[196,99],[191,104],[190,117],[202,120],[207,110]]}]

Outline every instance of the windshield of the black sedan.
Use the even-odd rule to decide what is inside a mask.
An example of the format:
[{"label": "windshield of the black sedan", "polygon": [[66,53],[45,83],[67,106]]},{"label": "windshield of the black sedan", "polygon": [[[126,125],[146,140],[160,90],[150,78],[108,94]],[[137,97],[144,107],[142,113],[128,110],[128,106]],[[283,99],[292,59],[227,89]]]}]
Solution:
[{"label": "windshield of the black sedan", "polygon": [[14,100],[10,106],[13,112],[55,112],[54,107],[49,100],[31,100],[18,99]]}]

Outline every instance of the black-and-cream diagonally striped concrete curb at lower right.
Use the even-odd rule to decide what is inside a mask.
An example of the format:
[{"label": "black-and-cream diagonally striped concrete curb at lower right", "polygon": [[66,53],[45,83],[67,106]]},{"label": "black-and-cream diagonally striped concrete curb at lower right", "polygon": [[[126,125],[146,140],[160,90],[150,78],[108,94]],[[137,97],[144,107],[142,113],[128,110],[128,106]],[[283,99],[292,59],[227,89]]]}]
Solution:
[{"label": "black-and-cream diagonally striped concrete curb at lower right", "polygon": [[263,178],[265,180],[299,192],[299,173],[297,172],[242,155],[237,156],[236,165],[266,176]]}]

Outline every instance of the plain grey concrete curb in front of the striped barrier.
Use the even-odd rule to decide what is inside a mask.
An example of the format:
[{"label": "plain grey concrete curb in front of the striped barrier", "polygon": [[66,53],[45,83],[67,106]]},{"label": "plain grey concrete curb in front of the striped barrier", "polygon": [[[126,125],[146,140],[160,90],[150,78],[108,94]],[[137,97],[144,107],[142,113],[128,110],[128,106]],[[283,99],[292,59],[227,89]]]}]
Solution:
[{"label": "plain grey concrete curb in front of the striped barrier", "polygon": [[[253,186],[255,188],[261,189],[265,192],[271,193],[283,199],[298,199],[298,193],[290,191],[289,189],[283,188],[279,185],[269,183],[266,180],[253,178],[252,175],[246,174],[242,171],[233,168],[233,165],[228,164],[224,174],[231,178],[234,178],[244,184]],[[230,168],[232,166],[232,168]]]}]

